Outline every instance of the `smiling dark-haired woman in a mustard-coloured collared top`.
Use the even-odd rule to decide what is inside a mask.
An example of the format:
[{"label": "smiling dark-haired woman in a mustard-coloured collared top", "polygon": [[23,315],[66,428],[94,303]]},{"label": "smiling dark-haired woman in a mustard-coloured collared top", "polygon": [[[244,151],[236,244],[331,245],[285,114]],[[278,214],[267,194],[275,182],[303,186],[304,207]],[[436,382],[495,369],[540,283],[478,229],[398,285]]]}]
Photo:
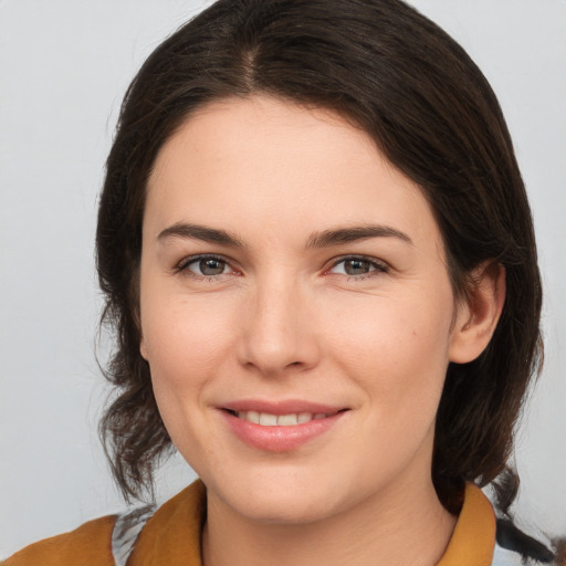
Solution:
[{"label": "smiling dark-haired woman in a mustard-coloured collared top", "polygon": [[553,559],[473,486],[504,517],[541,284],[496,99],[431,22],[213,4],[128,91],[97,250],[116,479],[172,442],[202,483],[8,565]]}]

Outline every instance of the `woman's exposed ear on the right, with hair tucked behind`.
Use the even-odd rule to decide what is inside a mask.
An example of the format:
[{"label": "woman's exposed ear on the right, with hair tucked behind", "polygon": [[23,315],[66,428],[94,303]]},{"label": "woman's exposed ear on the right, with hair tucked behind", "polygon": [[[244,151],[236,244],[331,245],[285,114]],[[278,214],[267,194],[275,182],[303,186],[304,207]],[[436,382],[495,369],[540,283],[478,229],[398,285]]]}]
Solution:
[{"label": "woman's exposed ear on the right, with hair tucked behind", "polygon": [[468,295],[457,304],[450,338],[449,359],[467,364],[488,346],[495,332],[505,302],[505,269],[497,262],[484,262],[471,273]]}]

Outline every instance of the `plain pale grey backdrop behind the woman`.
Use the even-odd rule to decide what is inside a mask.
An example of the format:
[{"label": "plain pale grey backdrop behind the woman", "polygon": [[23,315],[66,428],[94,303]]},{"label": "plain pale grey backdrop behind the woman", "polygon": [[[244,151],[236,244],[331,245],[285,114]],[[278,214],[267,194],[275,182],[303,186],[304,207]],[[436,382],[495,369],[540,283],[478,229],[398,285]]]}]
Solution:
[{"label": "plain pale grey backdrop behind the woman", "polygon": [[[546,365],[516,512],[566,533],[566,2],[412,0],[500,97],[532,201]],[[120,98],[199,0],[0,0],[0,556],[124,507],[99,447],[97,192]],[[102,354],[105,345],[102,343]],[[165,499],[193,478],[175,457]]]}]

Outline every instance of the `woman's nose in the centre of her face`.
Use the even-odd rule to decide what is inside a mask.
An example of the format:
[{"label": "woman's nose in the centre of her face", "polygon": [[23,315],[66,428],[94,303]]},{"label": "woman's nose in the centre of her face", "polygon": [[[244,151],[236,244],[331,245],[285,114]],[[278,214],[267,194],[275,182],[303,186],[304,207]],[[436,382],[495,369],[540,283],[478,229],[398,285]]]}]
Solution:
[{"label": "woman's nose in the centre of her face", "polygon": [[263,376],[312,369],[319,359],[313,302],[296,277],[259,282],[245,302],[240,361]]}]

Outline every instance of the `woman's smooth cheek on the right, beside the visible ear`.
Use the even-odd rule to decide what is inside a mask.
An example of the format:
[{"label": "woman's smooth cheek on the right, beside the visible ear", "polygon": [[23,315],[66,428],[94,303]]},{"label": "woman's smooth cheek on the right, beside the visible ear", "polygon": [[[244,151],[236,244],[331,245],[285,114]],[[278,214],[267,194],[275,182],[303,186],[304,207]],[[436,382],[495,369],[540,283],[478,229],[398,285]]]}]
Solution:
[{"label": "woman's smooth cheek on the right, beside the visible ear", "polygon": [[370,297],[326,323],[331,356],[359,381],[377,412],[395,420],[420,409],[436,412],[448,367],[451,310],[446,295],[415,295]]}]

